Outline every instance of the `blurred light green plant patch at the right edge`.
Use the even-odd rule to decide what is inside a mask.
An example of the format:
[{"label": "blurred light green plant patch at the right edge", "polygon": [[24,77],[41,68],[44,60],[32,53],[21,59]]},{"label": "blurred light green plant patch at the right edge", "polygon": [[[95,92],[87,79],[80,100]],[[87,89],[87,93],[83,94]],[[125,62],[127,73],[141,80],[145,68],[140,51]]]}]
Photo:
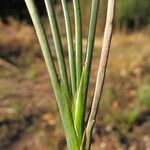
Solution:
[{"label": "blurred light green plant patch at the right edge", "polygon": [[141,105],[150,106],[150,86],[145,84],[138,88],[137,99]]}]

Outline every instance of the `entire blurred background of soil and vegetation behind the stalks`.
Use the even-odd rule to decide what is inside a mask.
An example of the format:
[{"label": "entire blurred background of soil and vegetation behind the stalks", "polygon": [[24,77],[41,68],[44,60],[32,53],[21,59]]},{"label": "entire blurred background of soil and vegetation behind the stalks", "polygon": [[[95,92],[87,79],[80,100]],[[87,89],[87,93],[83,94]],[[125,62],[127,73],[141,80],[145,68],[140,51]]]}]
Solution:
[{"label": "entire blurred background of soil and vegetation behind the stalks", "polygon": [[[36,1],[56,59],[43,1]],[[53,0],[68,64],[59,0]],[[81,0],[83,52],[91,0]],[[72,31],[72,1],[68,1]],[[107,1],[101,0],[88,106],[101,52]],[[150,149],[150,1],[118,0],[93,150]],[[23,0],[0,1],[0,150],[63,150],[65,137],[32,21]]]}]

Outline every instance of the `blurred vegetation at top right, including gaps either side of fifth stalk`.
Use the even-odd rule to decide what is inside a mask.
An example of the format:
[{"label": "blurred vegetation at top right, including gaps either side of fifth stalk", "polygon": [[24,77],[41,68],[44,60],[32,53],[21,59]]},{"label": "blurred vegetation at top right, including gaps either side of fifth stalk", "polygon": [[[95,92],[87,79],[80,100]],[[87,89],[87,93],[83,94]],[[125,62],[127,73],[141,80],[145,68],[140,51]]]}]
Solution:
[{"label": "blurred vegetation at top right, including gaps either side of fifth stalk", "polygon": [[[81,0],[83,4],[83,16],[88,14],[90,3],[87,0],[85,4],[84,0]],[[101,12],[99,15],[99,21],[101,25],[105,23],[107,1],[101,1]],[[141,29],[150,25],[150,1],[149,0],[118,0],[116,9],[116,28],[121,30],[134,30]]]}]

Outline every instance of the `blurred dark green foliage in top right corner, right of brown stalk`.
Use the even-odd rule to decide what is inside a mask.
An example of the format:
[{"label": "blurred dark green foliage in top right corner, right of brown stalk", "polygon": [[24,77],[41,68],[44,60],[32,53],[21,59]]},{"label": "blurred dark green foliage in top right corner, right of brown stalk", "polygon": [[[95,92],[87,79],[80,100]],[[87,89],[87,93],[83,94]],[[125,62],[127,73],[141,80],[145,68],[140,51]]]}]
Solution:
[{"label": "blurred dark green foliage in top right corner, right of brown stalk", "polygon": [[117,7],[116,20],[121,28],[140,28],[150,23],[149,0],[119,0]]}]

